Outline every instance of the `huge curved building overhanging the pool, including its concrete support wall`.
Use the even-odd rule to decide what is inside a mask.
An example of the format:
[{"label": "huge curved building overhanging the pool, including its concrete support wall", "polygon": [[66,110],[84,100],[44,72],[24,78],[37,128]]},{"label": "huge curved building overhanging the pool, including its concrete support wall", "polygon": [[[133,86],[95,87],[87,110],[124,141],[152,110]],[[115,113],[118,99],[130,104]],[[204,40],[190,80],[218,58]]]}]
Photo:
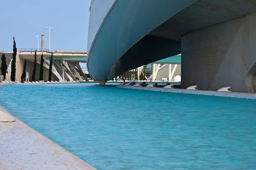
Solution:
[{"label": "huge curved building overhanging the pool, including its concrete support wall", "polygon": [[181,53],[181,88],[255,92],[255,46],[256,0],[93,0],[90,7],[87,68],[102,82]]}]

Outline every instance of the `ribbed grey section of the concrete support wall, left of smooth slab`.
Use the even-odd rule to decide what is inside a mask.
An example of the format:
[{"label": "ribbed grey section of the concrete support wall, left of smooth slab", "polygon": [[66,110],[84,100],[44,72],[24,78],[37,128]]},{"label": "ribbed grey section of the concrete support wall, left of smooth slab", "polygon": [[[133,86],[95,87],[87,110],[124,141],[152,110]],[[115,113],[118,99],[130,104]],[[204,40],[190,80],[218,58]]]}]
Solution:
[{"label": "ribbed grey section of the concrete support wall, left of smooth slab", "polygon": [[243,20],[221,23],[182,37],[181,88],[198,85],[201,90],[209,90]]}]

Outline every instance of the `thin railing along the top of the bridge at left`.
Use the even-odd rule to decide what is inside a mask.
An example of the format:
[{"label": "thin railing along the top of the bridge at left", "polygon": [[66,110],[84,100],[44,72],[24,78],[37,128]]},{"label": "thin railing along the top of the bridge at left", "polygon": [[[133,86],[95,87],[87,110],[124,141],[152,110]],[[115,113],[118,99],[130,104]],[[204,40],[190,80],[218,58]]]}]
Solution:
[{"label": "thin railing along the top of the bridge at left", "polygon": [[46,52],[48,54],[87,54],[86,50],[49,50],[49,49],[37,49],[37,48],[19,48],[19,53],[21,52],[30,52],[33,53],[35,51],[38,52]]}]

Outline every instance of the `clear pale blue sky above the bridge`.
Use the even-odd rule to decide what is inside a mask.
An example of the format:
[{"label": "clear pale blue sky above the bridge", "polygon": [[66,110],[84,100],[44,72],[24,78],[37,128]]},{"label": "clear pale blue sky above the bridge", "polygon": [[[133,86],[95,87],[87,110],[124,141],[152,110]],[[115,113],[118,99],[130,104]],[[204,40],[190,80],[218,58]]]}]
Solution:
[{"label": "clear pale blue sky above the bridge", "polygon": [[[87,50],[90,0],[1,0],[0,51],[37,48],[36,35],[44,34],[44,48]],[[41,48],[41,39],[39,39]]]}]

